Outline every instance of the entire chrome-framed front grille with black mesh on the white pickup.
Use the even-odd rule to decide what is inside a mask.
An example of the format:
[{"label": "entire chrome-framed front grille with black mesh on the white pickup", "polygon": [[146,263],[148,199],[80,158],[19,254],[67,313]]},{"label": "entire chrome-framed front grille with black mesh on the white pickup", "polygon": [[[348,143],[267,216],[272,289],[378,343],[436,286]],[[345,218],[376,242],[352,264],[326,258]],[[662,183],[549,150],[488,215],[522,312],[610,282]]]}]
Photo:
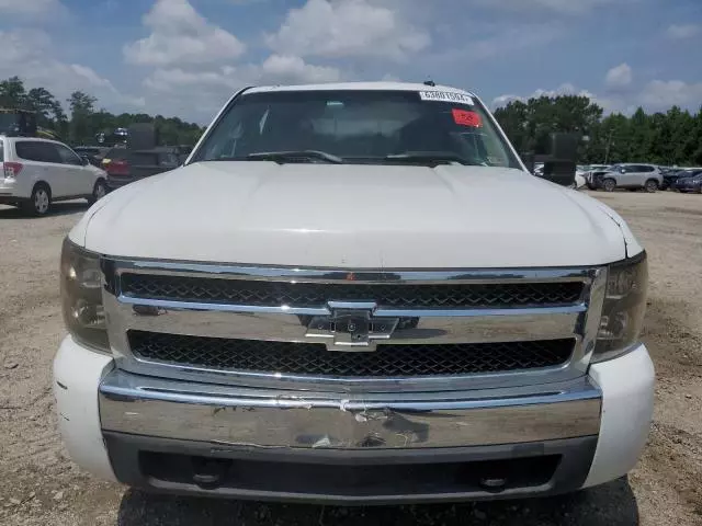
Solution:
[{"label": "entire chrome-framed front grille with black mesh on the white pickup", "polygon": [[[348,271],[105,259],[102,268],[117,367],[316,392],[577,378],[589,366],[607,283],[604,267]],[[373,338],[347,346],[343,320],[367,323]]]}]

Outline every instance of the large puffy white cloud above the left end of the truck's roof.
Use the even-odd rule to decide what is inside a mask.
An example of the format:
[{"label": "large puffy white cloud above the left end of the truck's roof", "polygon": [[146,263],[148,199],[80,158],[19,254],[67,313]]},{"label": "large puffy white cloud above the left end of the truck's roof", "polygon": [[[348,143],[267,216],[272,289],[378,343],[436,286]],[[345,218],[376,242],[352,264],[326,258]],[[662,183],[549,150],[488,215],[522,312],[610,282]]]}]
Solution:
[{"label": "large puffy white cloud above the left end of the truck's roof", "polygon": [[[151,34],[127,46],[125,58],[154,66],[143,80],[151,113],[177,113],[203,122],[245,85],[322,83],[347,77],[337,67],[309,64],[288,50],[260,61],[235,60],[240,58],[244,44],[223,49],[214,35],[224,30],[204,19],[186,0],[158,0],[144,23]],[[201,47],[188,41],[195,35],[203,39]],[[196,59],[199,56],[202,58]]]}]

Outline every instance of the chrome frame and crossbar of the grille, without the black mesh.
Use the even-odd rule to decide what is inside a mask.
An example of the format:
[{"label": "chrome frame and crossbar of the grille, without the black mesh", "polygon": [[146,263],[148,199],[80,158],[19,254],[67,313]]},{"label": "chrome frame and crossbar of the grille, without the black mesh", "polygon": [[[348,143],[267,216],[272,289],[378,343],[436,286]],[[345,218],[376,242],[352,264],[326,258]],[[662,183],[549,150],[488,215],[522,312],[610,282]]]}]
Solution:
[{"label": "chrome frame and crossbar of the grille, without the black mesh", "polygon": [[[593,348],[601,311],[607,271],[602,268],[507,268],[457,271],[347,271],[271,268],[201,263],[109,260],[104,305],[110,342],[117,364],[125,370],[154,376],[234,382],[271,388],[325,388],[336,390],[371,389],[375,392],[404,390],[455,390],[565,381],[586,373]],[[199,279],[237,279],[278,283],[314,283],[353,286],[354,284],[397,285],[478,285],[580,283],[581,294],[567,305],[539,305],[519,308],[393,308],[378,306],[374,319],[415,319],[399,325],[384,345],[460,344],[573,339],[570,359],[558,367],[507,373],[421,378],[333,378],[299,377],[280,371],[251,374],[214,370],[182,364],[154,363],[135,356],[127,331],[272,342],[319,343],[307,333],[309,317],[331,313],[330,307],[288,305],[261,306],[227,302],[155,299],[124,294],[123,274],[184,276]],[[333,298],[343,299],[343,298]],[[352,305],[352,304],[351,304]],[[333,351],[330,351],[333,352]]]}]

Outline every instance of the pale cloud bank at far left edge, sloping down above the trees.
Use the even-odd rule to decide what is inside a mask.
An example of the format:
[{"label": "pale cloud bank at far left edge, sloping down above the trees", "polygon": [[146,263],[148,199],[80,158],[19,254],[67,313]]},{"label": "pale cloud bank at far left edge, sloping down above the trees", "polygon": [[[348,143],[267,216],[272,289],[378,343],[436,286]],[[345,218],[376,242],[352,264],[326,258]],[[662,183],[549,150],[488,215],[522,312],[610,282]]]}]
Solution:
[{"label": "pale cloud bank at far left edge, sloping down above the trees", "polygon": [[27,89],[44,87],[60,102],[77,90],[95,95],[99,105],[143,106],[141,98],[121,93],[93,69],[54,58],[50,37],[35,30],[0,31],[0,78],[18,76]]}]

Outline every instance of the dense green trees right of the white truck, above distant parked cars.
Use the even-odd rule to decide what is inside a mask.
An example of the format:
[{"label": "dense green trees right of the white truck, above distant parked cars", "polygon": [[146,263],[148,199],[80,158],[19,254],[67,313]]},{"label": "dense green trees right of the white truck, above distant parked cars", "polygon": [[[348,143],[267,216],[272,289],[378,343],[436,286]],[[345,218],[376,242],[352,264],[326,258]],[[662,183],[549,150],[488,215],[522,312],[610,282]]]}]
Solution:
[{"label": "dense green trees right of the white truck, above distant parked cars", "polygon": [[581,164],[650,162],[660,165],[702,165],[702,106],[694,114],[678,106],[667,112],[604,116],[587,96],[541,96],[512,101],[495,117],[519,152],[533,151],[551,132],[582,135]]}]

